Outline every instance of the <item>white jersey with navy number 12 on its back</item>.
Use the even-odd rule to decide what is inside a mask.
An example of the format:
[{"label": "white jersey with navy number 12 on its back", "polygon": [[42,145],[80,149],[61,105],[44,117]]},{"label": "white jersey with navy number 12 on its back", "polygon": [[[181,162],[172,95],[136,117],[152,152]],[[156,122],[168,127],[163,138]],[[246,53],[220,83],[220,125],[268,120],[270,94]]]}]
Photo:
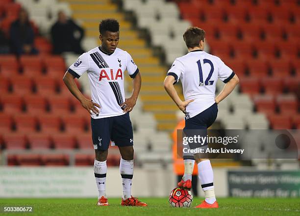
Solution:
[{"label": "white jersey with navy number 12 on its back", "polygon": [[186,106],[186,119],[212,106],[218,78],[226,83],[234,74],[219,57],[202,50],[176,58],[168,72],[175,77],[175,83],[181,80],[184,99],[194,99]]}]

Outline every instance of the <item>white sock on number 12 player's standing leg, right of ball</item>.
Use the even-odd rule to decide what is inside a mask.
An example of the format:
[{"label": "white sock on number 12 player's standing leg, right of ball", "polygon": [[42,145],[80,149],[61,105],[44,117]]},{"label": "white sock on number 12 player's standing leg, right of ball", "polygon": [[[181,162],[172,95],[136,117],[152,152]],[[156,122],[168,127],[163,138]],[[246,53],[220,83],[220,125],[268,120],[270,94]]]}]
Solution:
[{"label": "white sock on number 12 player's standing leg, right of ball", "polygon": [[198,164],[199,180],[205,195],[205,201],[213,204],[216,201],[214,173],[209,160],[201,161]]}]

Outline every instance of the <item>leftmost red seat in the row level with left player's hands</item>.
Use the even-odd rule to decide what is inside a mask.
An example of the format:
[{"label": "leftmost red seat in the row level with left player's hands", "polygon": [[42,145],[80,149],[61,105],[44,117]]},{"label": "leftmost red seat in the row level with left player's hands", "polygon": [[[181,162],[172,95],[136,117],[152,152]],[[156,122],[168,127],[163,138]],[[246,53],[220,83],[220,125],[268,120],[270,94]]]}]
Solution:
[{"label": "leftmost red seat in the row level with left player's hands", "polygon": [[21,113],[23,110],[23,101],[21,96],[17,95],[3,95],[0,96],[2,109],[4,113]]}]

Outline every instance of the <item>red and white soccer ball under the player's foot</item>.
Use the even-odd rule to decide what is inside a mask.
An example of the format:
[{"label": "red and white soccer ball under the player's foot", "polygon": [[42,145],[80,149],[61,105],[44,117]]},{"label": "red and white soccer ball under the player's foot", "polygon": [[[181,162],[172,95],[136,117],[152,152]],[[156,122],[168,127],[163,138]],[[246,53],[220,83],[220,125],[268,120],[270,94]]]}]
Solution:
[{"label": "red and white soccer ball under the player's foot", "polygon": [[175,188],[169,195],[169,203],[172,207],[188,208],[192,202],[192,193],[185,189]]}]

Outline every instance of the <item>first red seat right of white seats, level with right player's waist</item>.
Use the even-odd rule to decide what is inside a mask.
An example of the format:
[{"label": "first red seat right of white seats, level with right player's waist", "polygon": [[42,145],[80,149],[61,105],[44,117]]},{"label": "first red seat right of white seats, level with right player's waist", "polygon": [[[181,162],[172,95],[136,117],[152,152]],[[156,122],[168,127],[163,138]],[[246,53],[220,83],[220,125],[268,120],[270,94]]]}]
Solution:
[{"label": "first red seat right of white seats, level with right player's waist", "polygon": [[256,95],[253,97],[256,110],[258,112],[273,114],[275,113],[275,100],[271,95]]}]

